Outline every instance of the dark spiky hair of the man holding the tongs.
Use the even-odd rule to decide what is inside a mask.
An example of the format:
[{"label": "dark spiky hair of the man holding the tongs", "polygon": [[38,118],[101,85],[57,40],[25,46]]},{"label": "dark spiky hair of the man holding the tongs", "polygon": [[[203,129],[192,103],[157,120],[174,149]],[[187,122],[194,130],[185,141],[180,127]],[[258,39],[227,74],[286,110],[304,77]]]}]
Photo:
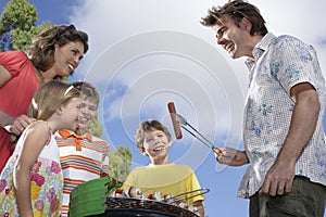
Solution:
[{"label": "dark spiky hair of the man holding the tongs", "polygon": [[213,7],[209,10],[208,15],[202,17],[200,23],[212,27],[214,25],[222,25],[225,17],[230,17],[237,26],[246,17],[252,25],[250,29],[251,36],[264,36],[268,33],[259,9],[243,0],[233,0],[223,7]]}]

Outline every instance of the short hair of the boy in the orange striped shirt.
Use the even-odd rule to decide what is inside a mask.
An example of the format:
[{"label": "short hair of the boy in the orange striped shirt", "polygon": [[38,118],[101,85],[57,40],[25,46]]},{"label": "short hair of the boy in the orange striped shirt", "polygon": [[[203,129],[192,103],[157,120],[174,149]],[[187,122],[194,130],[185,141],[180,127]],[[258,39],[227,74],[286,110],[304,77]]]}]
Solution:
[{"label": "short hair of the boy in the orange striped shirt", "polygon": [[83,100],[89,99],[90,101],[96,103],[97,106],[99,106],[100,94],[92,85],[86,81],[75,81],[72,82],[71,85],[80,91],[80,98]]}]

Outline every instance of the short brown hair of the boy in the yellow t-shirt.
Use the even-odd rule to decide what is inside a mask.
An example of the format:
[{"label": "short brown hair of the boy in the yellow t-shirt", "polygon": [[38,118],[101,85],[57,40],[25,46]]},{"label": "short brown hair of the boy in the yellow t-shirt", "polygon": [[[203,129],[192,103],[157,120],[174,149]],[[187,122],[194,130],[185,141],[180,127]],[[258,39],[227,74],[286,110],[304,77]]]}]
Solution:
[{"label": "short brown hair of the boy in the yellow t-shirt", "polygon": [[171,142],[171,133],[168,129],[155,119],[149,119],[141,123],[136,131],[135,139],[138,148],[143,148],[145,132],[160,130],[165,133],[167,141]]}]

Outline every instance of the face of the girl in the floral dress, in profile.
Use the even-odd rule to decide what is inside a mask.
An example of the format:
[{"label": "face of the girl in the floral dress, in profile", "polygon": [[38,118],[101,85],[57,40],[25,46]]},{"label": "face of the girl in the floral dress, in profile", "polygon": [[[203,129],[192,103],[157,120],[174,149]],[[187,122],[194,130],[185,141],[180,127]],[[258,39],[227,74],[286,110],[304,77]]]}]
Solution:
[{"label": "face of the girl in the floral dress, in profile", "polygon": [[61,106],[61,128],[75,131],[78,127],[79,110],[79,98],[73,98],[66,105]]}]

